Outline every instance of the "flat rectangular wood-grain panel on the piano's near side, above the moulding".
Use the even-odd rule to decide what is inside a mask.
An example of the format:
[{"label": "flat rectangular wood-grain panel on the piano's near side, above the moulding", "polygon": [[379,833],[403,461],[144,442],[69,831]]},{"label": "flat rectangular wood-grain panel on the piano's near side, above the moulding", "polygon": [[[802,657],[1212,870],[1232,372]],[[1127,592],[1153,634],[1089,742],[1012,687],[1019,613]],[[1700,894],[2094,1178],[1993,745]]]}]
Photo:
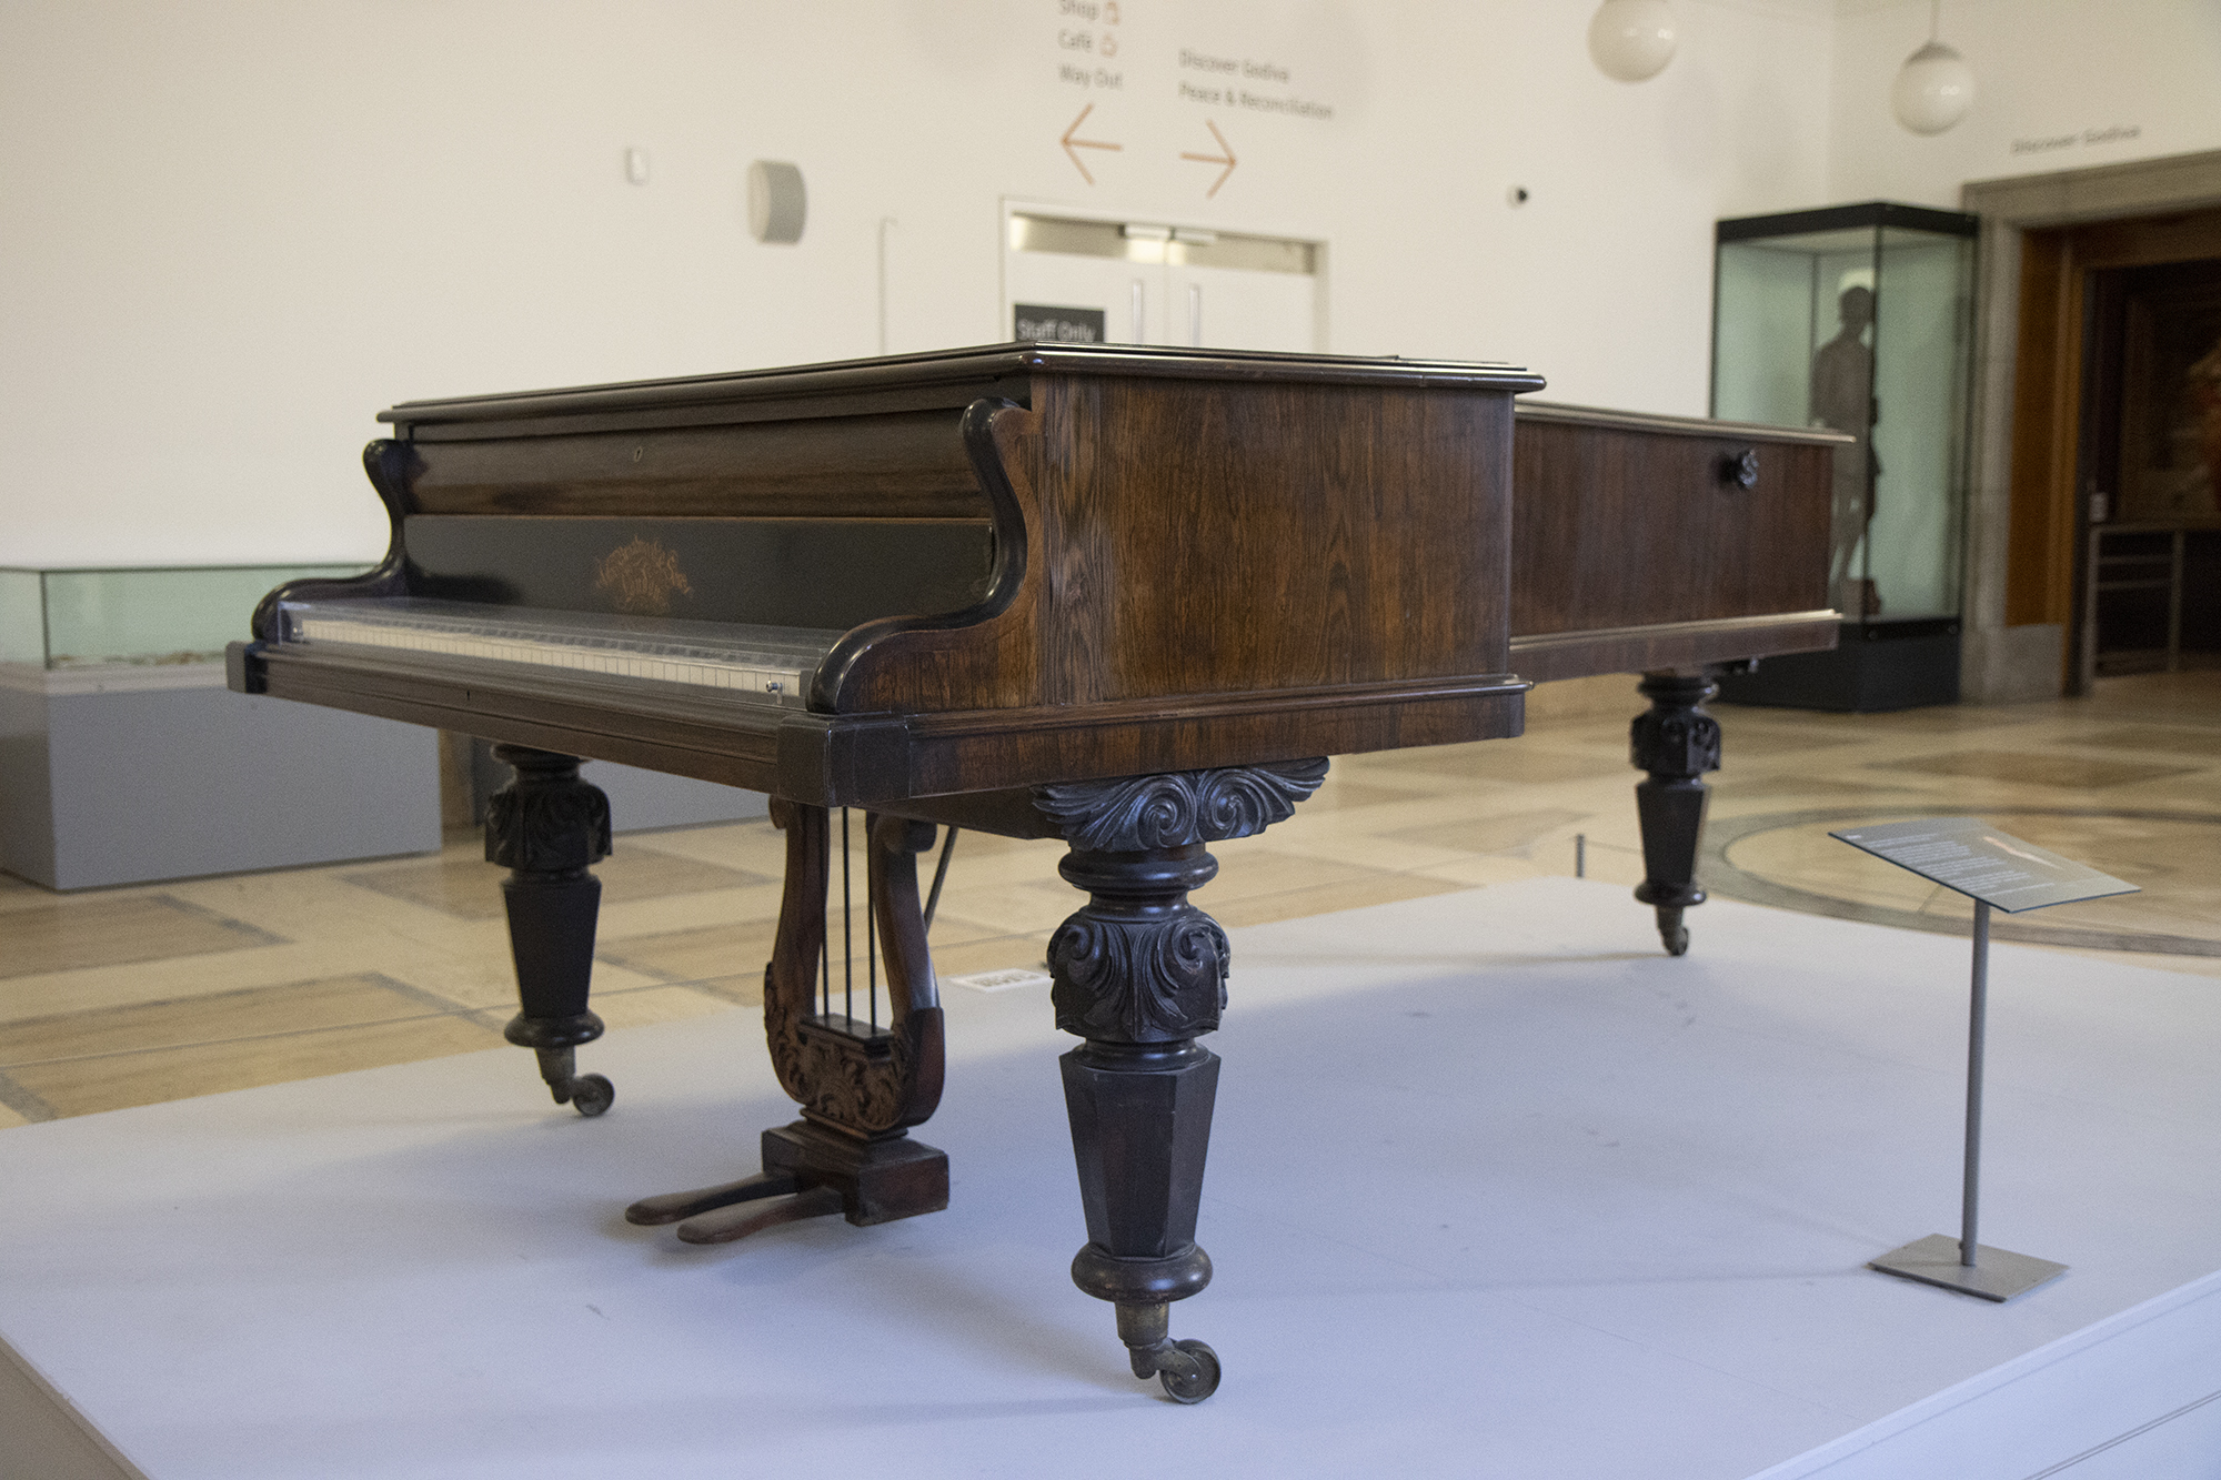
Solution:
[{"label": "flat rectangular wood-grain panel on the piano's near side, above the moulding", "polygon": [[1508,393],[1091,376],[1035,402],[1046,702],[1508,667]]}]

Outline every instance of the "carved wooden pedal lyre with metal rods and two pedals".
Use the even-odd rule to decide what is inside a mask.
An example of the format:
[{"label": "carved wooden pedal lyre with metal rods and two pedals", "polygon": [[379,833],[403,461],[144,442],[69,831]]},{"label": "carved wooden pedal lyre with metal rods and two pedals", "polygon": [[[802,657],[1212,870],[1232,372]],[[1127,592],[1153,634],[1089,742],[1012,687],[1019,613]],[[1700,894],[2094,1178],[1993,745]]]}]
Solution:
[{"label": "carved wooden pedal lyre with metal rods and two pedals", "polygon": [[689,1244],[726,1244],[802,1218],[844,1213],[871,1224],[948,1207],[948,1156],[908,1138],[942,1098],[942,1009],[917,907],[917,853],[933,847],[933,824],[864,822],[888,987],[880,1022],[851,1018],[844,991],[831,984],[826,811],[773,800],[771,818],[786,829],[786,893],[764,969],[764,1029],[780,1087],[802,1102],[802,1120],[764,1131],[760,1173],[624,1209],[629,1222],[680,1224]]}]

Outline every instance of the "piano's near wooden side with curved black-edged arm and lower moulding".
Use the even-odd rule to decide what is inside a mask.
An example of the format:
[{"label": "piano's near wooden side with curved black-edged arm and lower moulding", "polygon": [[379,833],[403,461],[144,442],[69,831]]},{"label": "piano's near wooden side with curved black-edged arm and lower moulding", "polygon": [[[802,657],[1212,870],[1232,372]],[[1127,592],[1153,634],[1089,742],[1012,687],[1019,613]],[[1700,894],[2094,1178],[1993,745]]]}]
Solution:
[{"label": "piano's near wooden side with curved black-edged arm and lower moulding", "polygon": [[913,796],[1519,733],[1504,393],[1044,378],[995,418],[1024,576],[888,622],[844,713]]}]

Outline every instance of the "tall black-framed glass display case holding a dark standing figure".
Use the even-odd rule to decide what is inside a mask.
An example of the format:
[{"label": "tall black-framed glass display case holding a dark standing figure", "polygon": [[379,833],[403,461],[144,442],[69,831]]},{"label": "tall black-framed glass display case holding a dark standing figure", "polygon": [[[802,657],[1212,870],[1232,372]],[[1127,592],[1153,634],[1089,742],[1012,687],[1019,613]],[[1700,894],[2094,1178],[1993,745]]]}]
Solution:
[{"label": "tall black-framed glass display case holding a dark standing figure", "polygon": [[1721,698],[1908,709],[1959,698],[1979,218],[1892,202],[1719,222],[1712,416],[1832,427],[1835,653],[1768,658]]}]

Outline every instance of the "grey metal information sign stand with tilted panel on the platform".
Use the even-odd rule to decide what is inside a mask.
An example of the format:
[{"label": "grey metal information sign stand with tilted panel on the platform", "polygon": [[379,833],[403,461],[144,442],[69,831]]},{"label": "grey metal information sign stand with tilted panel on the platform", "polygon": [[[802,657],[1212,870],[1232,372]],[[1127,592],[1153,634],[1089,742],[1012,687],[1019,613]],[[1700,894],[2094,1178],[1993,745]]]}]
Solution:
[{"label": "grey metal information sign stand with tilted panel on the platform", "polygon": [[1930,1233],[1890,1249],[1868,1269],[1941,1284],[1983,1300],[2014,1296],[2066,1273],[2039,1260],[1974,1240],[1981,1207],[1981,1049],[1990,1011],[1990,909],[2021,913],[2046,904],[2101,900],[2137,887],[2001,833],[1981,818],[1923,818],[1828,833],[1899,869],[1974,900],[1974,980],[1966,1027],[1966,1173],[1959,1189],[1959,1238]]}]

